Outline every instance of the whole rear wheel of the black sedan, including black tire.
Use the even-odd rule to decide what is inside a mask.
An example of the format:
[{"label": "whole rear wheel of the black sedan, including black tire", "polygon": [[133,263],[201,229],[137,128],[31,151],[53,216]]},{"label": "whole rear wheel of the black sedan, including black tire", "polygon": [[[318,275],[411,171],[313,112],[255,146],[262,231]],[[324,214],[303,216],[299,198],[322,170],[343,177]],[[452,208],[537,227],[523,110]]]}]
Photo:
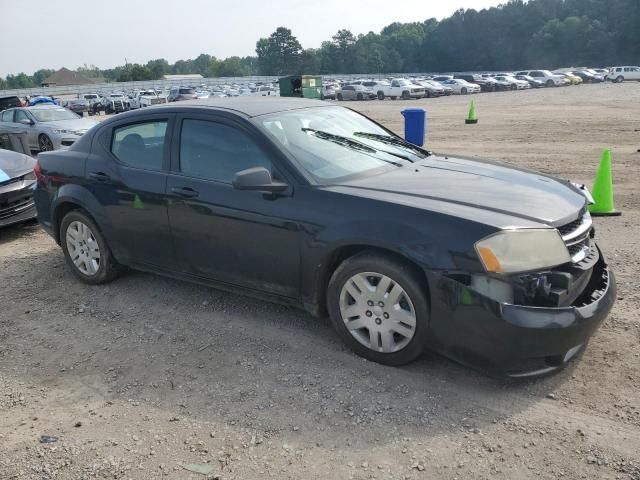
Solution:
[{"label": "whole rear wheel of the black sedan, including black tire", "polygon": [[[84,283],[89,285],[107,283],[122,272],[122,267],[114,260],[102,232],[83,210],[72,210],[62,219],[60,245],[62,245],[67,265]],[[97,259],[89,252],[97,252]],[[74,261],[74,259],[77,260]]]}]

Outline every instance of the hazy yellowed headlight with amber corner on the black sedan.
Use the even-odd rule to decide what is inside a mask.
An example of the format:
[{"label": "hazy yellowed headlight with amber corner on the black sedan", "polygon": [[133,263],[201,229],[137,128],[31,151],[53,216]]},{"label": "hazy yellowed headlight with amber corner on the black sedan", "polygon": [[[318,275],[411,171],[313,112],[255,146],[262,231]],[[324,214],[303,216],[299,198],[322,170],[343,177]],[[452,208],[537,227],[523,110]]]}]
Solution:
[{"label": "hazy yellowed headlight with amber corner on the black sedan", "polygon": [[475,247],[485,270],[493,273],[527,272],[571,261],[556,229],[503,230]]}]

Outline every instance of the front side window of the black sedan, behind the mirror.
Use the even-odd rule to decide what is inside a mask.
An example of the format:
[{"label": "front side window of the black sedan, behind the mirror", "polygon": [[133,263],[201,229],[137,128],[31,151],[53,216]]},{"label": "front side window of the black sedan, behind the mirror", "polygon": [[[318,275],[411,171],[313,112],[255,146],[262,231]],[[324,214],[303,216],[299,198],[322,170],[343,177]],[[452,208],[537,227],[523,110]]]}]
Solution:
[{"label": "front side window of the black sedan, behind the mirror", "polygon": [[271,161],[242,130],[206,120],[186,119],[182,122],[182,173],[231,183],[236,173],[252,167],[271,170]]}]

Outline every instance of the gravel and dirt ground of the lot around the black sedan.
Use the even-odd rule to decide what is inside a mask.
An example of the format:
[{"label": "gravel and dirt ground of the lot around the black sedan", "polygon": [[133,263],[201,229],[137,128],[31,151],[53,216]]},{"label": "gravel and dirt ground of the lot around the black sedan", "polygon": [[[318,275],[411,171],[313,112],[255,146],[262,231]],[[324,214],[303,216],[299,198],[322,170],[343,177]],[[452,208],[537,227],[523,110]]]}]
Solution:
[{"label": "gravel and dirt ground of the lot around the black sedan", "polygon": [[[352,103],[429,147],[591,183],[618,302],[580,361],[506,383],[436,355],[366,362],[301,311],[131,272],[77,282],[37,226],[0,231],[0,479],[640,479],[640,84]],[[496,348],[499,348],[497,345]],[[41,435],[57,437],[40,443]]]}]

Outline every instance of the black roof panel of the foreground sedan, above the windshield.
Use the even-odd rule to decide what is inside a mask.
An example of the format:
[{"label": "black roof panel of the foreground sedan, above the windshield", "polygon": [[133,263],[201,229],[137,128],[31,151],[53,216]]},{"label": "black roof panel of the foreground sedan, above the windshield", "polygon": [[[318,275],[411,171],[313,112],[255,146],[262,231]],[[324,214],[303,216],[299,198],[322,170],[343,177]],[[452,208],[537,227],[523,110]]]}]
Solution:
[{"label": "black roof panel of the foreground sedan, above the windshield", "polygon": [[[257,117],[270,113],[298,110],[310,107],[326,107],[330,104],[321,100],[310,100],[296,97],[233,97],[233,98],[202,98],[186,100],[179,103],[158,105],[153,108],[171,107],[214,107],[233,110],[248,117]],[[146,109],[145,109],[146,110]]]}]

